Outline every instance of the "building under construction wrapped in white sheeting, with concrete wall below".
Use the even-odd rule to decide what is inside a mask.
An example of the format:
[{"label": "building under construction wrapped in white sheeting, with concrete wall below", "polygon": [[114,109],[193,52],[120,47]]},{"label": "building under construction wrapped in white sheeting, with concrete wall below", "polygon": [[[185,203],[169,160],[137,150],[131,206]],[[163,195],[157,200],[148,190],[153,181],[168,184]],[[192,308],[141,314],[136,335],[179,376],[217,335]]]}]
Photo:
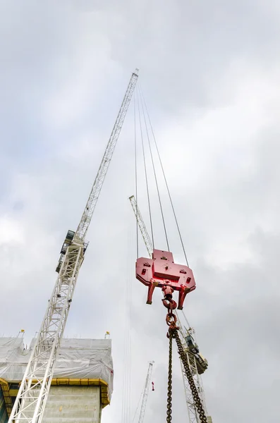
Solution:
[{"label": "building under construction wrapped in white sheeting, with concrete wall below", "polygon": [[[0,338],[0,423],[7,423],[30,359],[23,338]],[[43,423],[99,423],[113,391],[111,339],[63,339]]]}]

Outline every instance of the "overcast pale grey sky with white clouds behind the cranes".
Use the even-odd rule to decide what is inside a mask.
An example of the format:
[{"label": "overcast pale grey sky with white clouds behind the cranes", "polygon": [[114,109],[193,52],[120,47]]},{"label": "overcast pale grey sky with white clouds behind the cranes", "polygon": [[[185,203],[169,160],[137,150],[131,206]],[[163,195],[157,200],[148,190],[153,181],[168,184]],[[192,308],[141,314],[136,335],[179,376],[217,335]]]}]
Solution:
[{"label": "overcast pale grey sky with white clouds behind the cranes", "polygon": [[[1,335],[25,329],[29,342],[39,329],[61,244],[78,225],[137,67],[197,282],[185,314],[209,362],[209,414],[214,423],[279,420],[279,42],[276,0],[0,1]],[[69,337],[111,332],[114,393],[102,423],[131,423],[149,360],[145,423],[166,419],[165,309],[159,292],[145,304],[134,277],[133,160],[131,108],[66,327]],[[166,247],[159,226],[156,247]],[[173,404],[173,422],[187,423],[175,348]]]}]

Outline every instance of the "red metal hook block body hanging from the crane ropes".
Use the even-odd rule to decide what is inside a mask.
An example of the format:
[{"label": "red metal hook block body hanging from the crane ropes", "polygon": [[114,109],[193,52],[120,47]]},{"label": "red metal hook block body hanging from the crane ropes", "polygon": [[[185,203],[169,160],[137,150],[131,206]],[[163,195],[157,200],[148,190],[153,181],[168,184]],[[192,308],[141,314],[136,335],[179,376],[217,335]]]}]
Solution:
[{"label": "red metal hook block body hanging from the crane ropes", "polygon": [[178,290],[179,310],[183,309],[185,295],[195,289],[193,271],[188,266],[175,264],[173,254],[168,251],[154,250],[152,259],[140,257],[136,262],[136,278],[149,287],[147,304],[152,304],[152,294],[156,286]]}]

